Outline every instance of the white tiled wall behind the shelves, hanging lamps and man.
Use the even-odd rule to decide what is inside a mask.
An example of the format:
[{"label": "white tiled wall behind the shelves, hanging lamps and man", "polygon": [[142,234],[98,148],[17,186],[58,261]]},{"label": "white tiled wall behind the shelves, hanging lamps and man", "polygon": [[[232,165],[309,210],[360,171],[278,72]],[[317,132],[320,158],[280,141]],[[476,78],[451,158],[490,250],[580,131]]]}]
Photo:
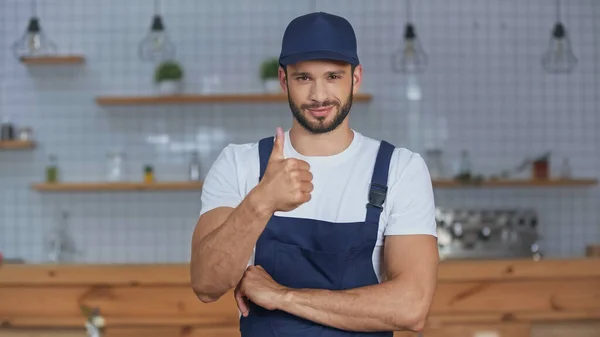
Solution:
[{"label": "white tiled wall behind the shelves, hanging lamps and man", "polygon": [[[281,34],[314,1],[163,1],[162,11],[186,90],[220,78],[226,92],[259,91],[258,66],[279,52]],[[318,0],[317,10],[341,14],[358,34],[370,104],[355,104],[360,132],[423,151],[441,146],[450,161],[461,149],[475,169],[490,173],[525,156],[553,151],[552,169],[568,157],[573,174],[600,175],[600,2],[563,1],[564,21],[580,60],[568,76],[542,72],[540,55],[554,20],[549,0],[413,1],[417,33],[430,58],[427,72],[392,73],[390,53],[401,40],[399,0]],[[104,178],[106,154],[127,153],[131,179],[146,163],[157,179],[186,178],[190,148],[206,172],[230,142],[255,141],[290,125],[285,103],[100,107],[102,94],[151,93],[153,65],[138,61],[137,43],[153,14],[150,0],[40,0],[42,27],[65,53],[85,65],[26,67],[10,44],[26,27],[30,2],[0,1],[0,115],[34,128],[32,151],[0,151],[0,251],[43,262],[44,235],[57,212],[70,225],[84,262],[187,261],[200,192],[39,193],[48,156],[58,156],[64,181]],[[416,83],[421,100],[407,99]],[[409,116],[416,117],[409,118]],[[415,122],[416,120],[416,122]],[[600,241],[600,193],[594,188],[436,190],[440,206],[535,207],[551,257],[578,256]]]}]

